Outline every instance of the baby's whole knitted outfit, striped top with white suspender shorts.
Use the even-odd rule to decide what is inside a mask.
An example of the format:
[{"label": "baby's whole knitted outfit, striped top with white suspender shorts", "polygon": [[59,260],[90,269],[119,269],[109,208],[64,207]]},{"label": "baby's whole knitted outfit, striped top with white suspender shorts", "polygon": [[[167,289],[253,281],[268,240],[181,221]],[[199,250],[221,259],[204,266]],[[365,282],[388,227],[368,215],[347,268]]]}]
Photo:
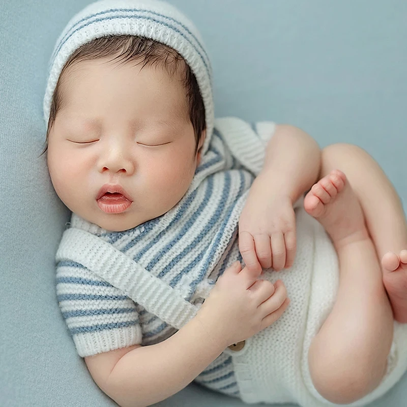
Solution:
[{"label": "baby's whole knitted outfit, striped top with white suspender shorts", "polygon": [[[123,232],[73,214],[56,255],[58,301],[81,357],[158,343],[192,318],[217,278],[242,257],[238,220],[275,125],[215,121],[208,152],[183,199],[169,212]],[[290,306],[277,322],[227,348],[195,381],[247,403],[334,405],[312,385],[307,354],[332,309],[338,260],[323,227],[295,205],[297,252],[281,279]],[[352,405],[383,395],[405,372],[407,325],[394,323],[381,385]]]}]

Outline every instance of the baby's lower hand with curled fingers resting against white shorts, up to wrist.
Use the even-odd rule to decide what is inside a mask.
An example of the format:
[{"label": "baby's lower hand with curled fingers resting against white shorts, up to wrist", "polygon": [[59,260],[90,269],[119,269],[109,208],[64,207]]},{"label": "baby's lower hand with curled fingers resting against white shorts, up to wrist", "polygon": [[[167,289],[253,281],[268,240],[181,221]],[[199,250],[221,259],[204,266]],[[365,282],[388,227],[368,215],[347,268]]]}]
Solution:
[{"label": "baby's lower hand with curled fingers resting against white shorts, up to wrist", "polygon": [[273,324],[289,304],[281,280],[257,280],[257,273],[241,270],[235,261],[219,277],[196,315],[205,329],[226,346],[250,338]]}]

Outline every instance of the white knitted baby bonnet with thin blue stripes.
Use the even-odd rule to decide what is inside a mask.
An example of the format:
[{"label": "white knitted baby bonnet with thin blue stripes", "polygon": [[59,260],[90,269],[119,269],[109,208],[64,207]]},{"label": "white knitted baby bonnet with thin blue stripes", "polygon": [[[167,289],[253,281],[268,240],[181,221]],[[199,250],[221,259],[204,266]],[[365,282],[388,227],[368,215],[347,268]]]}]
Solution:
[{"label": "white knitted baby bonnet with thin blue stripes", "polygon": [[108,35],[134,35],[156,40],[178,51],[191,67],[205,105],[208,150],[214,123],[212,68],[205,45],[182,13],[159,0],[101,0],[85,7],[67,24],[49,62],[44,96],[44,119],[48,125],[52,95],[69,56],[81,45]]}]

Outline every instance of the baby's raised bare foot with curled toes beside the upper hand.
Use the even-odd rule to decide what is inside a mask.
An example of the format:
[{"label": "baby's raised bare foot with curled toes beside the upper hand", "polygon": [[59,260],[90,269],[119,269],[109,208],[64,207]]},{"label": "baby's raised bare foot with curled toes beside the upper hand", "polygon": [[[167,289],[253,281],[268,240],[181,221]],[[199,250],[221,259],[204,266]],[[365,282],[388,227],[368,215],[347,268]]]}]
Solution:
[{"label": "baby's raised bare foot with curled toes beside the upper hand", "polygon": [[369,237],[358,197],[338,169],[312,186],[304,208],[324,226],[336,248]]}]

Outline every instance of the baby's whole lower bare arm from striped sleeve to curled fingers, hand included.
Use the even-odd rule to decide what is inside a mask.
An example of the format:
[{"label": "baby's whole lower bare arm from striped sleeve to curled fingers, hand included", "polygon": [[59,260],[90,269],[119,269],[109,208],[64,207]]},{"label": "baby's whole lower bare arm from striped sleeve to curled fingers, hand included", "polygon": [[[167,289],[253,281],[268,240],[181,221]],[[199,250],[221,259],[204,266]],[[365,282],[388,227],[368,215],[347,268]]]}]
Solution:
[{"label": "baby's whole lower bare arm from striped sleeve to curled fingers, hand included", "polygon": [[270,326],[287,308],[284,284],[257,277],[236,261],[168,339],[85,358],[96,384],[121,407],[144,407],[182,390],[227,346]]}]

